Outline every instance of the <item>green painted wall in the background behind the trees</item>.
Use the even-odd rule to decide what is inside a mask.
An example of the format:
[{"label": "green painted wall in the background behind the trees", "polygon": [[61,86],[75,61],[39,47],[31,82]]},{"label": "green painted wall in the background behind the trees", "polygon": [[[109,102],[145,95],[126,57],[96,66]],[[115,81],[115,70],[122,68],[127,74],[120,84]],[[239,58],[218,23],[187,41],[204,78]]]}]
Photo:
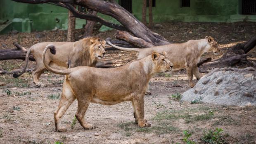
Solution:
[{"label": "green painted wall in the background behind the trees", "polygon": [[[118,0],[116,0],[118,1]],[[190,7],[180,7],[180,0],[156,0],[153,7],[154,22],[200,21],[200,22],[235,22],[255,21],[256,15],[242,15],[242,0],[190,0]],[[142,0],[133,0],[133,14],[142,17]],[[10,30],[21,32],[43,31],[54,28],[66,29],[68,10],[50,4],[26,4],[12,0],[0,0],[0,33]],[[115,19],[98,14],[109,21]],[[7,24],[2,24],[9,20]],[[76,28],[82,28],[86,21],[76,19]],[[102,27],[101,31],[109,28]]]}]

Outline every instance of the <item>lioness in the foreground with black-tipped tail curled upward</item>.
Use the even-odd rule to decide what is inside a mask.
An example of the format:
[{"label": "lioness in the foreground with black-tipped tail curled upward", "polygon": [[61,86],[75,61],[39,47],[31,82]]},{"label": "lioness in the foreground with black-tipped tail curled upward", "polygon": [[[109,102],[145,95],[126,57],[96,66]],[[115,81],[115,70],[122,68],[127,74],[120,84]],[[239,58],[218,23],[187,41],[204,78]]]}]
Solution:
[{"label": "lioness in the foreground with black-tipped tail curled upward", "polygon": [[124,101],[132,101],[135,121],[140,127],[149,127],[144,119],[144,95],[149,80],[154,73],[171,71],[173,64],[163,55],[152,52],[150,56],[130,62],[118,68],[92,68],[78,66],[65,70],[52,68],[45,59],[45,53],[53,45],[45,47],[43,63],[45,67],[57,74],[66,75],[59,106],[54,113],[55,128],[59,132],[66,131],[60,126],[60,119],[77,99],[76,118],[85,129],[94,128],[84,120],[85,112],[91,102],[113,105]]}]

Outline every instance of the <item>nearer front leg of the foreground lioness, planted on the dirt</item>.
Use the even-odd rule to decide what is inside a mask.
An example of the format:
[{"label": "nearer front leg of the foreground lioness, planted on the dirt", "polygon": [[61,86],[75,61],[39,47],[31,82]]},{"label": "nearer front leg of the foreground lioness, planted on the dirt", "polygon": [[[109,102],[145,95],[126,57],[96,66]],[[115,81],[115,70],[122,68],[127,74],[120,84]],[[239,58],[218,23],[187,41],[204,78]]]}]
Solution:
[{"label": "nearer front leg of the foreground lioness, planted on the dirt", "polygon": [[151,124],[144,119],[144,95],[133,98],[132,103],[135,109],[135,121],[137,116],[137,122],[140,127],[150,127]]}]

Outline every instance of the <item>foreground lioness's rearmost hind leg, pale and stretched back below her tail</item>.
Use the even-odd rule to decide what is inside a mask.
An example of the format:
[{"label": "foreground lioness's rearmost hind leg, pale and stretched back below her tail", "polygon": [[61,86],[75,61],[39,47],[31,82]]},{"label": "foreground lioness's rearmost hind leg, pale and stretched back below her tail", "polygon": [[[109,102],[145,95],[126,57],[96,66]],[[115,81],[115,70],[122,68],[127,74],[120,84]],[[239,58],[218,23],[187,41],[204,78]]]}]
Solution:
[{"label": "foreground lioness's rearmost hind leg, pale and stretched back below her tail", "polygon": [[60,126],[60,120],[69,106],[76,99],[75,95],[71,91],[71,87],[67,84],[66,81],[63,83],[62,96],[59,101],[59,106],[57,110],[54,112],[54,120],[55,120],[55,129],[59,132],[65,132],[66,127]]}]

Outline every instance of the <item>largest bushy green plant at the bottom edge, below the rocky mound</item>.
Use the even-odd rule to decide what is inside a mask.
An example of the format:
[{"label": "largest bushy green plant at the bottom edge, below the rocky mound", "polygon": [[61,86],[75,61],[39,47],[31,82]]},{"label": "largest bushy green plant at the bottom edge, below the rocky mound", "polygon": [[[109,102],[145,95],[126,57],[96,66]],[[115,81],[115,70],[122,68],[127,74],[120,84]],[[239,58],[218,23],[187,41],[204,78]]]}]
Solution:
[{"label": "largest bushy green plant at the bottom edge, below the rocky mound", "polygon": [[205,144],[227,144],[228,142],[226,142],[225,138],[228,136],[228,134],[223,135],[223,129],[217,127],[214,131],[204,131],[204,135],[201,137],[201,140]]}]

